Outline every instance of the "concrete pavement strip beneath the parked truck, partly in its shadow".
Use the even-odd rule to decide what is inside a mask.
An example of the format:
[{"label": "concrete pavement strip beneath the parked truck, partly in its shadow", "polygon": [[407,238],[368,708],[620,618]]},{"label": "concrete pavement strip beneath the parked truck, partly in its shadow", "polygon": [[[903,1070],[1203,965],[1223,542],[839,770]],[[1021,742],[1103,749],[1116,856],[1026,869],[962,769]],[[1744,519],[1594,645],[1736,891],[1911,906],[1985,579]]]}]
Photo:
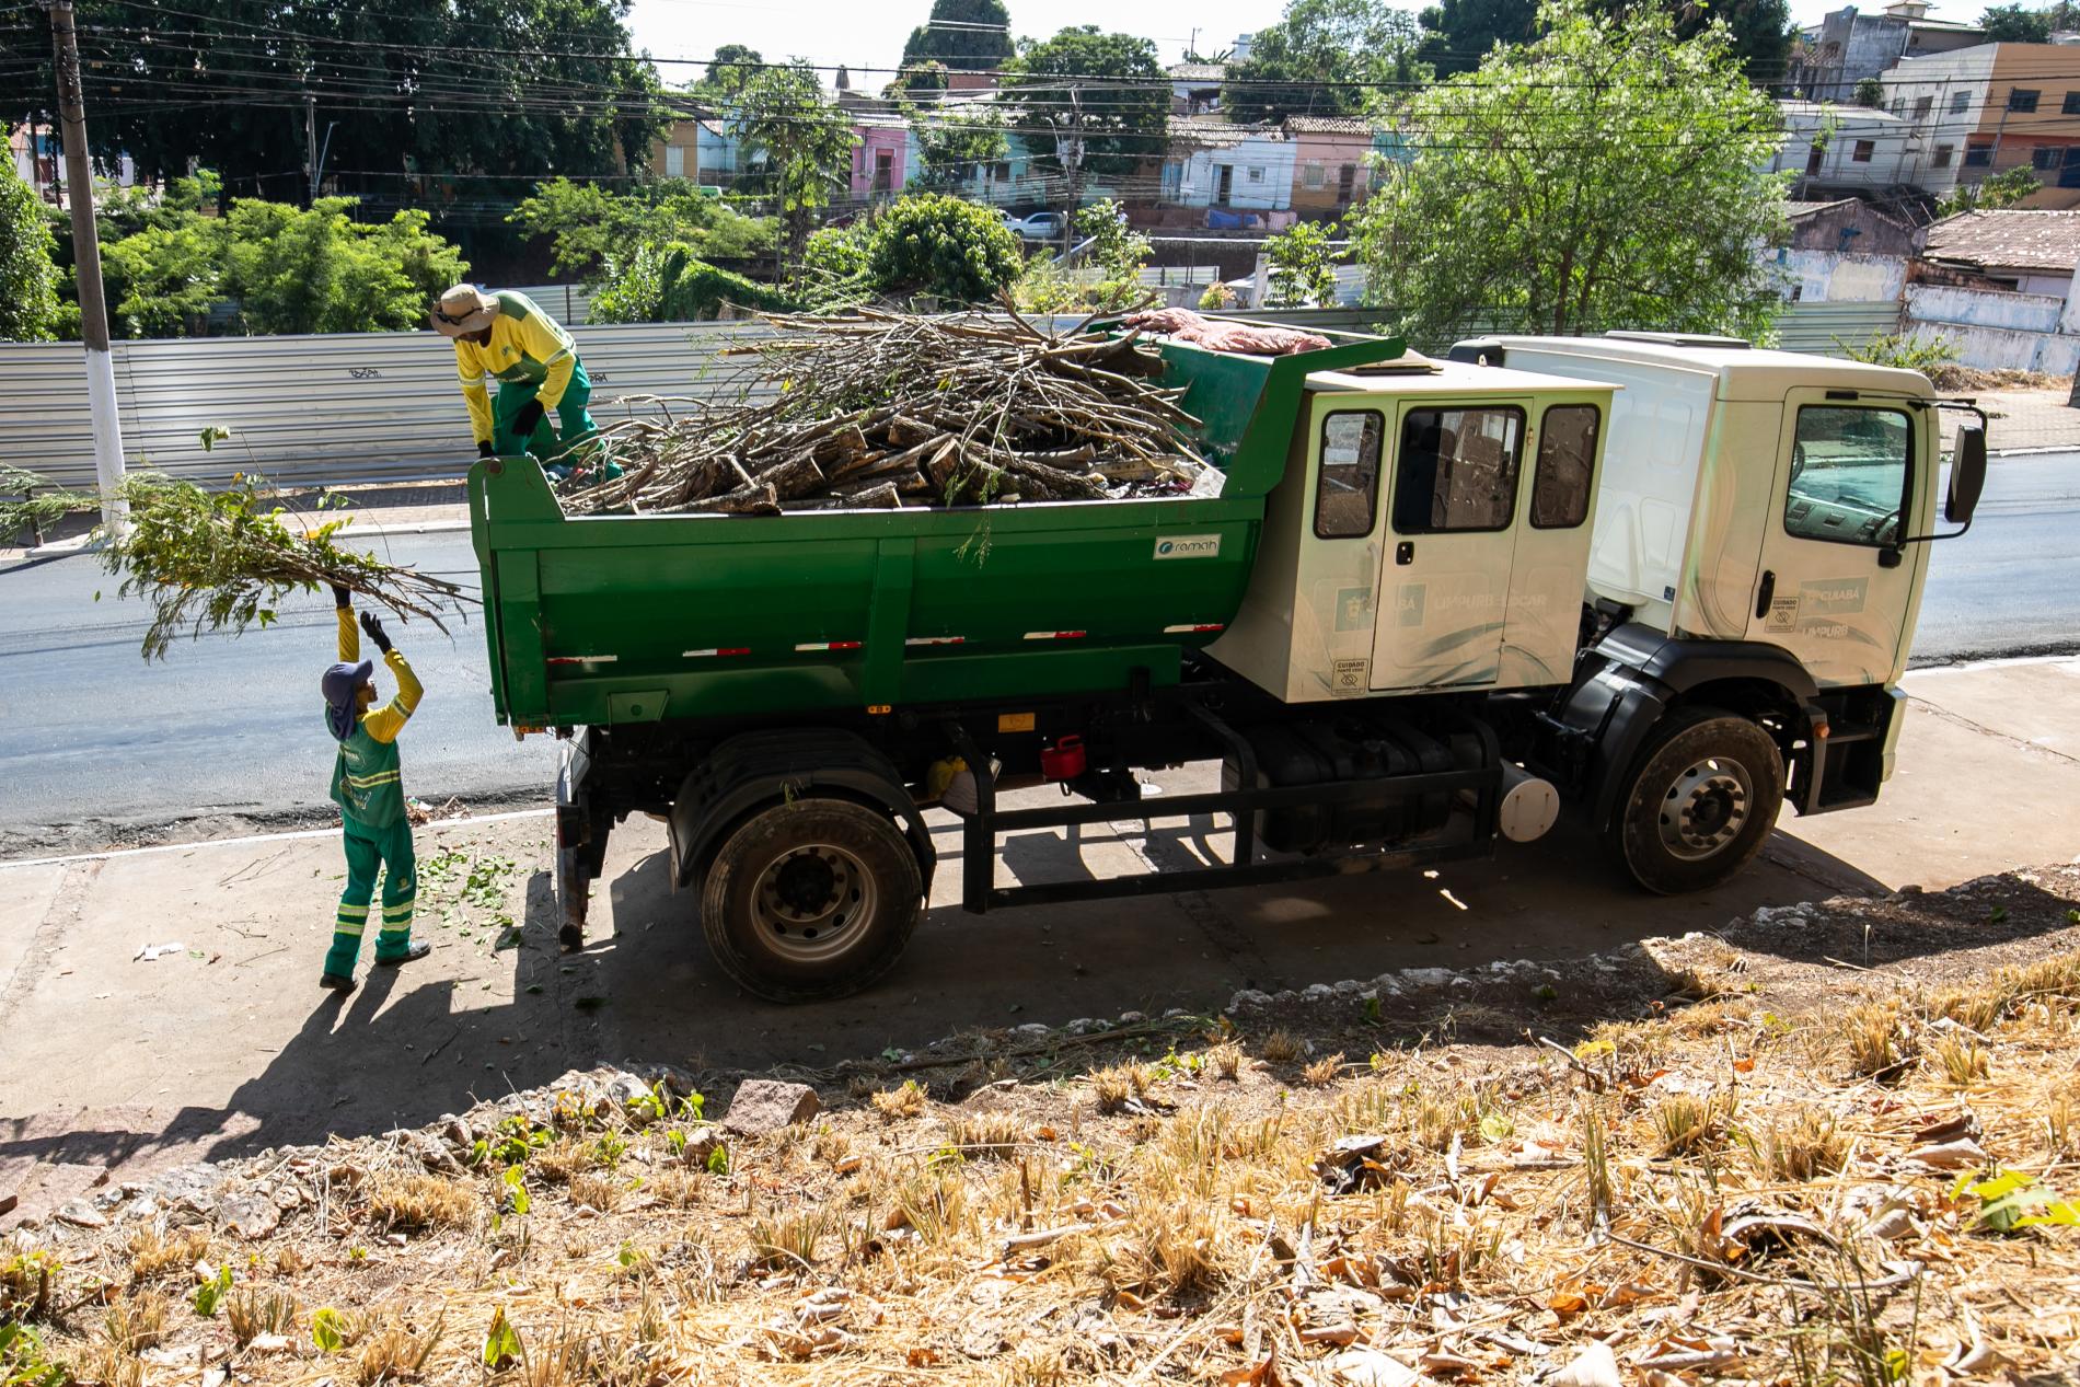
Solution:
[{"label": "concrete pavement strip beneath the parked truck, partly in its shadow", "polygon": [[[967,1027],[1219,1011],[1233,990],[1471,967],[1716,930],[1837,890],[1949,886],[2080,850],[2080,659],[1926,670],[1872,809],[1787,819],[1701,896],[1618,882],[1575,834],[1437,873],[1350,875],[976,917],[934,815],[934,909],[903,965],[822,1006],[745,998],[709,963],[664,830],[616,830],[595,944],[560,954],[545,815],[418,830],[433,959],[316,988],[337,834],[0,865],[0,1225],[112,1171],[420,1125],[599,1058],[817,1069]],[[1194,784],[1194,769],[1165,776]],[[1227,850],[1202,821],[1011,838],[1000,880],[1140,871]],[[156,954],[156,957],[154,957]]]}]

